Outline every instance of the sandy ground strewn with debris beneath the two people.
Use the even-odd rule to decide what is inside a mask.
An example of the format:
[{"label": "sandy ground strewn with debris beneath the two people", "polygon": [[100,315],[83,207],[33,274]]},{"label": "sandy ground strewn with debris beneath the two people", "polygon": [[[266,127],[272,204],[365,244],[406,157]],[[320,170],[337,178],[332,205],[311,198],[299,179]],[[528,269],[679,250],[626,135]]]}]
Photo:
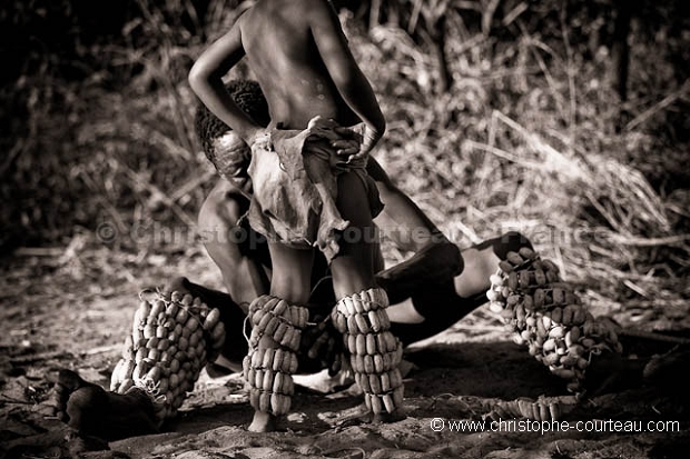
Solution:
[{"label": "sandy ground strewn with debris beneath the two people", "polygon": [[[191,276],[207,285],[218,279],[201,256],[186,261]],[[140,260],[139,260],[140,261]],[[149,260],[150,261],[150,260]],[[137,291],[176,273],[168,263],[118,272],[110,281],[101,269],[50,265],[42,258],[14,260],[0,309],[0,457],[8,458],[638,458],[687,457],[690,447],[688,401],[667,389],[639,387],[607,393],[571,411],[568,432],[451,430],[451,421],[481,421],[497,400],[564,395],[563,383],[512,343],[486,310],[406,351],[416,369],[405,379],[406,419],[390,425],[338,425],[359,397],[323,396],[298,389],[293,412],[277,432],[245,430],[252,417],[238,375],[220,380],[203,376],[169,430],[100,445],[100,452],[76,452],[79,439],[55,418],[52,381],[60,368],[108,386],[120,343],[137,305]],[[71,263],[71,265],[70,265]],[[81,273],[81,275],[79,275]],[[136,275],[136,276],[135,276]],[[650,313],[653,312],[653,313]],[[674,311],[612,311],[624,325],[682,333],[688,306]],[[637,322],[635,322],[637,321]],[[627,340],[627,353],[664,352],[671,345]],[[687,380],[680,373],[671,377]],[[681,390],[680,393],[683,391]],[[445,429],[434,431],[441,418]],[[679,421],[676,432],[581,432],[578,421]],[[661,425],[659,425],[661,426]],[[669,428],[673,428],[670,426]],[[81,445],[82,446],[82,445]]]}]

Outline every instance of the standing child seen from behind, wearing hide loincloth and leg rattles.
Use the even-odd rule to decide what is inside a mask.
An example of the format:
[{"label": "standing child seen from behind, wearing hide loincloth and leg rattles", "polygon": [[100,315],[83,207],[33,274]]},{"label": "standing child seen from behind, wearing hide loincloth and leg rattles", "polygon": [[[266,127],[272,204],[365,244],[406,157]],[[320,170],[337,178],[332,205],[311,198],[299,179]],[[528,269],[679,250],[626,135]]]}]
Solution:
[{"label": "standing child seen from behind, wearing hide loincloth and leg rattles", "polygon": [[[268,102],[268,128],[224,89],[221,77],[245,56]],[[333,318],[365,402],[376,416],[395,411],[403,392],[402,345],[388,331],[388,300],[374,281],[372,219],[382,204],[364,171],[385,121],[335,10],[326,0],[259,0],[201,54],[189,82],[252,147],[248,218],[269,240],[270,296],[249,309],[249,430],[273,430],[275,417],[289,409],[313,247],[331,262],[338,299]]]}]

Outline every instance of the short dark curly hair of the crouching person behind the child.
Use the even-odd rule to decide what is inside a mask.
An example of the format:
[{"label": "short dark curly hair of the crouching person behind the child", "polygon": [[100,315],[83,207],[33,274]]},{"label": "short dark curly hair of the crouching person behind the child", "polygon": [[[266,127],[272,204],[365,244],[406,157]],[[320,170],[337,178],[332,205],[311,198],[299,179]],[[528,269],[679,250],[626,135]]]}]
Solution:
[{"label": "short dark curly hair of the crouching person behind the child", "polygon": [[[256,81],[231,80],[225,86],[225,89],[230,93],[235,103],[254,121],[264,127],[268,126],[270,122],[268,104]],[[213,161],[215,158],[214,141],[230,130],[230,127],[220,121],[204,103],[199,103],[194,117],[194,128],[201,141],[206,157]]]}]

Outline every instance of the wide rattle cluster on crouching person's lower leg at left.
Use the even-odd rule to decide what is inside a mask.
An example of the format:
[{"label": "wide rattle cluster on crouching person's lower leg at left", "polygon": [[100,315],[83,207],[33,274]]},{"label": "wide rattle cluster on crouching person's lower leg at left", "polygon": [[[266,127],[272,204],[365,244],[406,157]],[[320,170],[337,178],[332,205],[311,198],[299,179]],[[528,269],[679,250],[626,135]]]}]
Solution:
[{"label": "wide rattle cluster on crouching person's lower leg at left", "polygon": [[175,416],[208,360],[225,342],[220,311],[199,298],[145,290],[131,335],[110,380],[110,390],[144,390],[159,421]]}]

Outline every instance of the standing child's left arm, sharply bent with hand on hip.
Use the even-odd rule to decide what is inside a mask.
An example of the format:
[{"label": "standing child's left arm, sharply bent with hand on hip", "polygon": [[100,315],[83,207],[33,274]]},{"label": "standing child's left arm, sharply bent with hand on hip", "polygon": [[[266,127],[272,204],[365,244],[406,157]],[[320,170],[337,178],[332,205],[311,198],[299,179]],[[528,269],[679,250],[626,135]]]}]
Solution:
[{"label": "standing child's left arm, sharply bent with hand on hip", "polygon": [[239,27],[241,20],[239,17],[229,32],[204,51],[191,67],[188,79],[201,102],[252,146],[264,128],[237,107],[223,83],[223,76],[245,56]]}]

